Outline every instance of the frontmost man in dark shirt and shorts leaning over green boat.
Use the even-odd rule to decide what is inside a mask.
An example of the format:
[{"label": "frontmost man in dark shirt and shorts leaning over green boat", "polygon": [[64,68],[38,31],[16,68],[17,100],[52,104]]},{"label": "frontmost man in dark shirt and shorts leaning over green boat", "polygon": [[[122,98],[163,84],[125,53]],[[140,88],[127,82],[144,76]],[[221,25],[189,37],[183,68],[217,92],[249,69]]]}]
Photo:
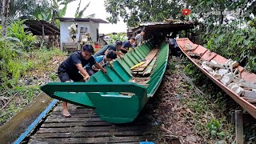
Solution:
[{"label": "frontmost man in dark shirt and shorts leaning over green boat", "polygon": [[[82,46],[81,52],[74,52],[58,67],[58,78],[61,82],[85,82],[90,80],[90,75],[83,68],[88,63],[94,65],[96,68],[101,69],[104,73],[106,70],[95,62],[92,54],[94,53],[94,48],[91,45]],[[80,73],[79,73],[80,72]],[[63,102],[62,115],[64,117],[70,117],[70,112],[67,109],[67,102]]]}]

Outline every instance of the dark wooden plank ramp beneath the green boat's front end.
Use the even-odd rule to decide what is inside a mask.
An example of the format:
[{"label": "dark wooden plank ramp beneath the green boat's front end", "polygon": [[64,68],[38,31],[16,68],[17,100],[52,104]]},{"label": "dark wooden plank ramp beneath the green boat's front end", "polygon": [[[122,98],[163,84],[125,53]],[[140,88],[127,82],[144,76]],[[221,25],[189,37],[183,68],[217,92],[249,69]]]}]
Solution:
[{"label": "dark wooden plank ramp beneath the green boat's front end", "polygon": [[61,106],[56,106],[28,143],[138,143],[157,138],[146,114],[135,122],[112,124],[98,118],[93,109],[75,105],[69,105],[72,117],[63,118]]}]

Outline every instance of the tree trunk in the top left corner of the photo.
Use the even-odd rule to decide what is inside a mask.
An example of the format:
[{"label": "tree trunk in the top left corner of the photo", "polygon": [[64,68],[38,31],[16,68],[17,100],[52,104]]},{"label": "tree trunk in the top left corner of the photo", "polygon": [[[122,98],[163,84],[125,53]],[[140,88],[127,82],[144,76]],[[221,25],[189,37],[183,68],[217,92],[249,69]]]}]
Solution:
[{"label": "tree trunk in the top left corner of the photo", "polygon": [[6,36],[6,26],[9,13],[10,0],[2,0],[2,37]]}]

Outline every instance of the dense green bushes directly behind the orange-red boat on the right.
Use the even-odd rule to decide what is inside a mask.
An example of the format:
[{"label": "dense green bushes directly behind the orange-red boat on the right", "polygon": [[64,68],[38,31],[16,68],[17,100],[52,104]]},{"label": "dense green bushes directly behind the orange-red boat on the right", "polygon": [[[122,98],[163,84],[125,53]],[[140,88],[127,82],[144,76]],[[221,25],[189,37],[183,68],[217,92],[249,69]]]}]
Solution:
[{"label": "dense green bushes directly behind the orange-red boat on the right", "polygon": [[256,73],[256,28],[238,29],[238,23],[230,26],[208,26],[202,36],[205,46],[225,58],[241,62],[247,70]]}]

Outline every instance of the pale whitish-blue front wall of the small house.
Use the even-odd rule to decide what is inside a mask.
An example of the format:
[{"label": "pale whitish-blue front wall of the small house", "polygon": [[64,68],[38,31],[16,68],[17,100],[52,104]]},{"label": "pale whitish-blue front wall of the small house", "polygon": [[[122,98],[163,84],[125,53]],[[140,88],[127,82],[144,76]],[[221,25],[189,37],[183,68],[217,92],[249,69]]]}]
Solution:
[{"label": "pale whitish-blue front wall of the small house", "polygon": [[70,31],[68,30],[68,27],[71,26],[73,23],[78,24],[78,34],[75,39],[75,42],[78,42],[78,38],[80,36],[80,30],[81,27],[87,27],[87,32],[90,34],[90,37],[92,38],[92,41],[97,41],[97,29],[98,29],[98,23],[95,22],[60,22],[60,41],[61,41],[61,47],[63,42],[73,42],[72,38],[70,38]]}]

